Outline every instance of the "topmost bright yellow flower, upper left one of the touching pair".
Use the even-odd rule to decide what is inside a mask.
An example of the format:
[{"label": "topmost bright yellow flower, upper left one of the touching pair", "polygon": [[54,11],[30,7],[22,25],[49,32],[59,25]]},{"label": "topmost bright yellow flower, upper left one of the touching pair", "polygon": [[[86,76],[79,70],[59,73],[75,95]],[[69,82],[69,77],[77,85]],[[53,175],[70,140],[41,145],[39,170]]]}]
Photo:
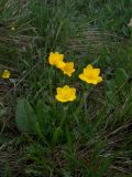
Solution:
[{"label": "topmost bright yellow flower, upper left one of the touching pair", "polygon": [[61,54],[58,52],[55,52],[55,53],[51,52],[50,53],[48,62],[50,62],[51,65],[56,65],[57,66],[57,64],[59,62],[63,62],[63,60],[64,60],[64,54]]}]

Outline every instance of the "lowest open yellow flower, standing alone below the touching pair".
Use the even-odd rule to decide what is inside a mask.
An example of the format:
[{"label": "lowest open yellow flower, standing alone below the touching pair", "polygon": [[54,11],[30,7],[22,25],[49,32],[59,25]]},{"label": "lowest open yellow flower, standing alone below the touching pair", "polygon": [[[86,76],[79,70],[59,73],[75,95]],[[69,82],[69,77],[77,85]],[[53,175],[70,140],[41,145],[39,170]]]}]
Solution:
[{"label": "lowest open yellow flower, standing alone below the touching pair", "polygon": [[73,102],[76,98],[76,88],[65,85],[56,88],[56,100],[59,102]]}]

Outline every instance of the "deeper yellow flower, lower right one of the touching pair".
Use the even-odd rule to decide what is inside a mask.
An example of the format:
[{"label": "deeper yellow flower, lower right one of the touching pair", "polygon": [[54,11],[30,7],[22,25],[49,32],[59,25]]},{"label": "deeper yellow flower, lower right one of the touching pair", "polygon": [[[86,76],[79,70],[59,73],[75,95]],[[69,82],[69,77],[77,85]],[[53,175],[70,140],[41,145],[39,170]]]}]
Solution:
[{"label": "deeper yellow flower, lower right one of the touching pair", "polygon": [[64,74],[72,76],[72,74],[75,72],[74,62],[65,63],[64,67],[62,67],[62,71],[64,72]]}]

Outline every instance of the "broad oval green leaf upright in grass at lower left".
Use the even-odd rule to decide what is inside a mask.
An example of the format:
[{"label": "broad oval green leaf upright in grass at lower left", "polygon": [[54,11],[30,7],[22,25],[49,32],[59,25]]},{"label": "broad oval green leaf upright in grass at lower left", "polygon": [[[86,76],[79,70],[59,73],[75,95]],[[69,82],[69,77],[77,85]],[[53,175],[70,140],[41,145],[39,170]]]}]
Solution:
[{"label": "broad oval green leaf upright in grass at lower left", "polygon": [[15,124],[19,131],[24,133],[34,133],[36,125],[36,115],[29,101],[20,98],[15,110]]}]

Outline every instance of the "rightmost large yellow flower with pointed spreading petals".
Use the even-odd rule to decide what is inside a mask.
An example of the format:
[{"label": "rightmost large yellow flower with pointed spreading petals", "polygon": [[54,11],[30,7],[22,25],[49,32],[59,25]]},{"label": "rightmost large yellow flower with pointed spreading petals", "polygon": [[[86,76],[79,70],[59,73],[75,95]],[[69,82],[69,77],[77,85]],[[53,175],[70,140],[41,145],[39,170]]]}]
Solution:
[{"label": "rightmost large yellow flower with pointed spreading petals", "polygon": [[86,69],[84,69],[84,73],[79,74],[79,79],[87,82],[88,84],[98,84],[102,81],[102,77],[99,76],[100,69],[94,69],[91,64],[88,64]]}]

